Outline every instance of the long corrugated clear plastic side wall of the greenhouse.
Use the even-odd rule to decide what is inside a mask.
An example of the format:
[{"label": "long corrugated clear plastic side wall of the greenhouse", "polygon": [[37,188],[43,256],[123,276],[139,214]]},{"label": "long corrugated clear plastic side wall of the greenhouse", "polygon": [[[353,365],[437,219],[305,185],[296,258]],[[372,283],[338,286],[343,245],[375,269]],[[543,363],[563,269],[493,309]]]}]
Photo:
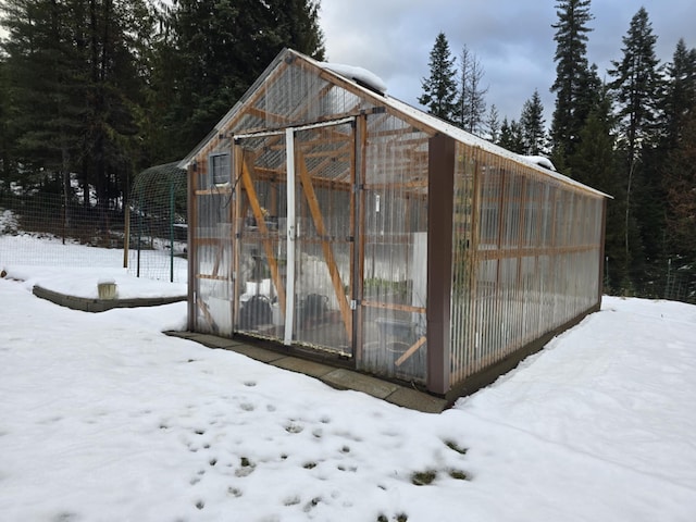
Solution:
[{"label": "long corrugated clear plastic side wall of the greenhouse", "polygon": [[599,306],[605,199],[463,144],[453,197],[450,386],[461,387]]}]

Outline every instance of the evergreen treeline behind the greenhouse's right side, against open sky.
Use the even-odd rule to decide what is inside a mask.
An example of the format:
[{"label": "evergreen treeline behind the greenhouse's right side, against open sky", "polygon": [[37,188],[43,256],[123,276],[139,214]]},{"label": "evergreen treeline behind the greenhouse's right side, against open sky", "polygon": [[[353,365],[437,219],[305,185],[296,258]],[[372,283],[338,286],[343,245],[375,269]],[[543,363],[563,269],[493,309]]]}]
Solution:
[{"label": "evergreen treeline behind the greenhouse's right side, against open sky", "polygon": [[547,156],[561,173],[612,196],[606,291],[696,302],[696,49],[680,39],[660,63],[641,8],[602,80],[587,57],[591,0],[560,0],[556,10],[548,129],[538,91],[519,120],[500,122],[495,104],[486,108],[475,54],[464,47],[457,60],[444,33],[419,102],[513,152]]}]

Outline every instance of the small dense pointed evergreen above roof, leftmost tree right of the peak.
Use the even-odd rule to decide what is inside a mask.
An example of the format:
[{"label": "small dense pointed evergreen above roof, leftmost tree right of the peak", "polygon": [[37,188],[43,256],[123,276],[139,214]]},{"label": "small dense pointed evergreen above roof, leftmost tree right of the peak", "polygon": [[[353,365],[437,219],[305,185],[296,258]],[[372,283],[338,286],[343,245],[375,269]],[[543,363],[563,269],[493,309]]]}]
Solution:
[{"label": "small dense pointed evergreen above roof, leftmost tree right of the peak", "polygon": [[457,82],[455,59],[451,58],[449,42],[444,33],[437,35],[430,58],[431,75],[423,78],[423,95],[418,99],[419,103],[427,108],[427,112],[456,123],[457,116]]}]

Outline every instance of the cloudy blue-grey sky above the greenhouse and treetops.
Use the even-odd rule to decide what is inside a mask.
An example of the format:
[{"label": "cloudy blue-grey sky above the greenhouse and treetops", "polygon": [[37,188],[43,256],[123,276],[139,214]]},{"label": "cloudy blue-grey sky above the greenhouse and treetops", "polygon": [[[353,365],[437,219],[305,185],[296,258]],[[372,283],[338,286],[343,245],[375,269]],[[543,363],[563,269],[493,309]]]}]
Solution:
[{"label": "cloudy blue-grey sky above the greenhouse and treetops", "polygon": [[[484,69],[486,103],[500,121],[519,120],[522,104],[538,89],[546,124],[556,95],[554,53],[556,0],[321,0],[327,61],[357,65],[380,76],[387,92],[420,107],[422,79],[430,75],[430,52],[437,34],[447,36],[459,59],[465,45]],[[656,52],[672,60],[676,42],[696,47],[694,0],[595,0],[588,24],[587,59],[600,77],[622,57],[621,39],[644,7],[658,37]]]}]

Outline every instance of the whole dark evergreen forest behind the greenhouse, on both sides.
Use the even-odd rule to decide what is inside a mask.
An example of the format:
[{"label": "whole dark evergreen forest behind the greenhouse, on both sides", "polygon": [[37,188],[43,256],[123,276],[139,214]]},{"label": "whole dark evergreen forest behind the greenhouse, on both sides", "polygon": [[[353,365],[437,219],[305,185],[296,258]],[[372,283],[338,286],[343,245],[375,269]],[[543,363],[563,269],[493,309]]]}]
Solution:
[{"label": "whole dark evergreen forest behind the greenhouse, on both sides", "polygon": [[[22,186],[123,204],[136,173],[191,150],[281,49],[322,60],[318,13],[319,0],[2,0],[0,199]],[[549,125],[538,91],[499,121],[483,64],[467,47],[453,58],[444,34],[419,102],[612,196],[607,291],[695,301],[696,50],[680,40],[660,63],[642,8],[600,73],[591,0],[556,13]]]}]

